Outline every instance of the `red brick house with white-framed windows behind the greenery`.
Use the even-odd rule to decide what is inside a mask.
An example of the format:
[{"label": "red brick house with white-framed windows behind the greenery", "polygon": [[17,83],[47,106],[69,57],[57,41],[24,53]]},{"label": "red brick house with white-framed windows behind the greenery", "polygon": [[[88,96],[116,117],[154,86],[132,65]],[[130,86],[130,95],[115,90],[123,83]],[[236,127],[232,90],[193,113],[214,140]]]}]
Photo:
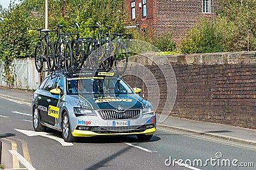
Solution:
[{"label": "red brick house with white-framed windows behind the greenery", "polygon": [[212,4],[218,0],[124,0],[129,18],[127,28],[137,27],[142,34],[163,36],[173,33],[179,45],[199,17],[211,19]]}]

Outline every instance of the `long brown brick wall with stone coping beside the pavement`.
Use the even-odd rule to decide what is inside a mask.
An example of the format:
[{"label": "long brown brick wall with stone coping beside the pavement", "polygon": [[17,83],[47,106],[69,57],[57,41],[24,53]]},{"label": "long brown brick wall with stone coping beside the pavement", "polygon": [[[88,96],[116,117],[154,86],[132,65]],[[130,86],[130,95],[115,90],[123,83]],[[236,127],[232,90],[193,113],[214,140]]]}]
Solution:
[{"label": "long brown brick wall with stone coping beside the pavement", "polygon": [[[136,57],[129,59],[134,61]],[[256,129],[254,52],[175,55],[168,56],[168,60],[177,79],[177,96],[170,116]],[[168,70],[160,70],[154,62],[145,66],[154,73],[159,85],[156,113],[161,114],[164,104],[168,104],[163,76]],[[143,87],[143,78],[127,75],[124,79],[132,87]],[[152,94],[147,94],[147,85],[144,87],[148,99]]]}]

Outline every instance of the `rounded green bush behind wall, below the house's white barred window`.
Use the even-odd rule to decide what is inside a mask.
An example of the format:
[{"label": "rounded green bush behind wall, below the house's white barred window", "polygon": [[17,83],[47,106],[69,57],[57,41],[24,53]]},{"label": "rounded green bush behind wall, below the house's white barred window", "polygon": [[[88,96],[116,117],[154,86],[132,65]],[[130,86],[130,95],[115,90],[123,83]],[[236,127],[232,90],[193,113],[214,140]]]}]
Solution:
[{"label": "rounded green bush behind wall, below the house's white barred window", "polygon": [[191,28],[180,45],[182,53],[225,52],[223,32],[206,19],[200,20]]}]

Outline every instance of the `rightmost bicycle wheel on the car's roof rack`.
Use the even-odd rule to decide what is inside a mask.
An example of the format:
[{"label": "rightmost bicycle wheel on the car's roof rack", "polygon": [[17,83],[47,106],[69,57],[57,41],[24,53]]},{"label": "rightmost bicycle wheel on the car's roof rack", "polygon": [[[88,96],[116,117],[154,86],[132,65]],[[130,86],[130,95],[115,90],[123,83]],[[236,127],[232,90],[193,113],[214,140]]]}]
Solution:
[{"label": "rightmost bicycle wheel on the car's roof rack", "polygon": [[115,68],[116,71],[120,74],[123,74],[127,68],[128,64],[128,53],[127,48],[122,43],[116,44],[116,50],[115,50]]}]

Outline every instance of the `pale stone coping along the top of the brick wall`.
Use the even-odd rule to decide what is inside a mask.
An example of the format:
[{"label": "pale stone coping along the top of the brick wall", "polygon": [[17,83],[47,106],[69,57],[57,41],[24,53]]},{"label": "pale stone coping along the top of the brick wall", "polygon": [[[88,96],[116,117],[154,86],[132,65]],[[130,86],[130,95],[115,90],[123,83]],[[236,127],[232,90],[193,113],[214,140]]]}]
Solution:
[{"label": "pale stone coping along the top of the brick wall", "polygon": [[256,64],[256,54],[251,52],[220,52],[220,53],[193,53],[178,55],[157,55],[156,52],[145,52],[129,57],[129,62],[142,65],[152,65],[153,61],[165,63],[166,57],[170,64],[181,65],[213,65],[213,64]]}]

